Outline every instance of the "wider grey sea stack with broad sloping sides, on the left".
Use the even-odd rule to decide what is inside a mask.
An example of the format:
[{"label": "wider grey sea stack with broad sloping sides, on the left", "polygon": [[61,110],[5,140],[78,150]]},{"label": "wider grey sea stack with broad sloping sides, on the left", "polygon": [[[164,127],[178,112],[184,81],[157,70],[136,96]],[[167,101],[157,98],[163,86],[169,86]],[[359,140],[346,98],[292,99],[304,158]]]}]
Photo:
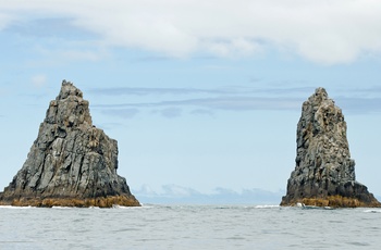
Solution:
[{"label": "wider grey sea stack with broad sloping sides, on the left", "polygon": [[116,168],[116,140],[93,125],[89,102],[63,80],[23,167],[0,192],[0,204],[140,205]]}]

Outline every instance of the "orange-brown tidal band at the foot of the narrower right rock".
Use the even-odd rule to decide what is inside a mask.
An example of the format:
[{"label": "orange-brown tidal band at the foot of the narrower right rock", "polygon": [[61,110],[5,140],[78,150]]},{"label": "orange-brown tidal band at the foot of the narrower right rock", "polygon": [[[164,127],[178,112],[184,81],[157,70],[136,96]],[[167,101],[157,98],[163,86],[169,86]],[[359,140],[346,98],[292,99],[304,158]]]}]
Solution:
[{"label": "orange-brown tidal band at the foot of the narrower right rock", "polygon": [[287,203],[282,201],[281,205],[296,205],[296,203],[304,203],[305,205],[315,207],[330,207],[330,208],[381,208],[381,203],[376,199],[370,202],[364,202],[356,198],[347,198],[342,196],[329,196],[324,198],[303,198],[298,200],[291,200]]}]

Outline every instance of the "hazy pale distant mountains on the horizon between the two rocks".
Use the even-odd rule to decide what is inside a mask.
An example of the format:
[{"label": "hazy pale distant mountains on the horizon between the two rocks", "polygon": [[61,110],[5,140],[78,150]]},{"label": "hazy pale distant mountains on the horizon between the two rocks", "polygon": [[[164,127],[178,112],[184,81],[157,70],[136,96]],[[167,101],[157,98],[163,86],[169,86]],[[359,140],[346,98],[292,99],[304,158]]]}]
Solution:
[{"label": "hazy pale distant mountains on the horizon between the two rocks", "polygon": [[226,188],[216,188],[212,193],[202,193],[179,185],[164,185],[162,191],[153,191],[149,186],[133,190],[142,203],[156,204],[279,204],[284,190],[271,192],[258,188],[243,189],[241,192]]}]

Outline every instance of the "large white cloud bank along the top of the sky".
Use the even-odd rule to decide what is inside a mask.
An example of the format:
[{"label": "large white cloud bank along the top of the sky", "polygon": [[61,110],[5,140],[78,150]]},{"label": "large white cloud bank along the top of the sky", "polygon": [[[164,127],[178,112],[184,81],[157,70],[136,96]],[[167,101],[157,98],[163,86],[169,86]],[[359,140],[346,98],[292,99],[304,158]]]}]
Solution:
[{"label": "large white cloud bank along the top of the sky", "polygon": [[171,57],[242,57],[276,48],[322,63],[381,52],[378,0],[1,1],[0,29],[15,20],[70,17],[102,46]]}]

